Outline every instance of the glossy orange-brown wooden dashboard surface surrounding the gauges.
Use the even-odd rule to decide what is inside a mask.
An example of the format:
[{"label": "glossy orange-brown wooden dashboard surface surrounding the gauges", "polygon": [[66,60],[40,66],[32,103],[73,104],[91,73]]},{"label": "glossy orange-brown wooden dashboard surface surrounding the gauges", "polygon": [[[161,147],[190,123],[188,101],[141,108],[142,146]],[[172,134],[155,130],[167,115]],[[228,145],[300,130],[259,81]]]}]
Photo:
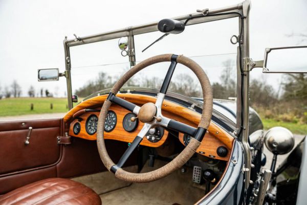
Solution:
[{"label": "glossy orange-brown wooden dashboard surface surrounding the gauges", "polygon": [[[131,94],[131,93],[118,93],[116,96],[121,97],[127,101],[130,101],[131,103],[134,103],[140,107],[146,103],[155,103],[157,99],[156,97],[153,96]],[[100,95],[87,99],[86,101],[83,101],[82,103],[75,106],[64,116],[63,118],[64,123],[70,126],[69,130],[70,136],[80,137],[89,140],[96,140],[96,133],[93,135],[89,135],[86,133],[85,122],[87,117],[89,117],[92,114],[95,114],[98,117],[99,112],[86,112],[79,116],[82,119],[82,121],[79,121],[81,125],[81,131],[78,135],[75,135],[73,132],[73,127],[75,123],[78,121],[78,119],[73,118],[73,115],[76,112],[83,109],[95,108],[100,110],[106,97],[107,95]],[[143,127],[143,122],[139,120],[139,124],[136,130],[133,132],[127,132],[124,130],[122,122],[124,116],[127,113],[129,113],[129,111],[115,104],[112,104],[109,110],[112,110],[116,113],[117,125],[113,131],[104,132],[104,138],[125,141],[125,142],[132,142],[139,133],[139,131],[141,130],[141,128]],[[201,114],[168,100],[163,101],[162,114],[170,119],[178,120],[194,128],[198,126],[199,121],[201,119]],[[184,136],[183,133],[179,133],[179,140],[184,145],[183,136]],[[146,137],[144,137],[140,145],[148,147],[159,147],[164,144],[167,137],[168,137],[168,132],[164,130],[164,135],[160,141],[154,143],[150,142],[149,140],[146,139]],[[229,133],[227,133],[224,129],[220,128],[214,122],[211,121],[208,131],[205,134],[204,139],[202,140],[202,144],[198,148],[198,150],[196,150],[196,152],[210,158],[228,161],[231,154],[233,141],[234,138]],[[217,155],[216,149],[220,146],[224,146],[228,150],[227,156],[220,157]]]}]

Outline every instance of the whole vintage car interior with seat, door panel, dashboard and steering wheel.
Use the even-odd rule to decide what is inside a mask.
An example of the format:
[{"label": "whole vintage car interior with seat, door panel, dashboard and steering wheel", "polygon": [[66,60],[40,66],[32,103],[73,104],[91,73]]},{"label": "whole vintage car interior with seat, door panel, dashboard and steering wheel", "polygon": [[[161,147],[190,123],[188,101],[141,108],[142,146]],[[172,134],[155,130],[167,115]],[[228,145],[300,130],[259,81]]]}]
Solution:
[{"label": "whole vintage car interior with seat, door panel, dashboard and steering wheel", "polygon": [[[121,88],[160,61],[171,61],[160,91]],[[177,62],[203,76],[204,99],[166,92]],[[208,78],[191,59],[149,58],[61,119],[0,122],[6,145],[0,149],[0,203],[196,203],[219,186],[230,160],[236,163],[234,107],[212,101]],[[251,132],[261,130],[251,114]]]}]

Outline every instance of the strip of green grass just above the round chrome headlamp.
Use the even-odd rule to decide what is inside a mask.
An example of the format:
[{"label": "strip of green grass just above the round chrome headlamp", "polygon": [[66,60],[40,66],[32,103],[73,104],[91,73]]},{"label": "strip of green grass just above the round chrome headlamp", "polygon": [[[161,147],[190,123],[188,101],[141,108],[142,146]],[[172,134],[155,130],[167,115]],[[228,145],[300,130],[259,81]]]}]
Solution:
[{"label": "strip of green grass just above the round chrome headlamp", "polygon": [[265,130],[268,130],[272,127],[281,126],[289,129],[291,132],[295,134],[302,134],[302,135],[307,134],[306,124],[283,122],[283,121],[277,121],[274,119],[265,119],[265,118],[262,118],[262,123],[264,124]]}]

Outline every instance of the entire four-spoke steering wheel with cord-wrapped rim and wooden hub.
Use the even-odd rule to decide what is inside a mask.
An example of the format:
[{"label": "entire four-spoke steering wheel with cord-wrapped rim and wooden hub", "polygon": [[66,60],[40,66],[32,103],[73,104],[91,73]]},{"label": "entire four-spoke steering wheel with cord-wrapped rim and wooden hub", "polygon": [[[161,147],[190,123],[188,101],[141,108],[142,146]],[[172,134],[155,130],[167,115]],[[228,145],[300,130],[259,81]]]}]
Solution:
[{"label": "entire four-spoke steering wheel with cord-wrapped rim and wooden hub", "polygon": [[[142,69],[150,66],[152,64],[170,61],[171,64],[163,81],[162,87],[160,92],[157,95],[156,104],[153,103],[146,103],[142,107],[139,107],[133,103],[130,103],[122,98],[116,96],[119,89],[126,83],[128,79],[130,79],[133,75],[141,71]],[[174,69],[176,68],[177,63],[185,65],[186,67],[190,68],[195,75],[198,77],[204,96],[204,105],[203,105],[203,112],[200,123],[198,128],[195,129],[191,126],[183,124],[179,121],[167,118],[162,115],[161,107],[164,100],[164,96],[168,89],[172,74]],[[133,113],[138,115],[140,121],[144,122],[144,126],[133,140],[131,145],[127,148],[121,159],[115,164],[112,159],[108,156],[108,153],[105,148],[104,138],[103,138],[103,131],[104,131],[104,121],[107,115],[107,111],[112,103],[115,103]],[[212,90],[210,86],[209,79],[204,72],[204,70],[195,63],[192,59],[185,57],[183,55],[173,55],[173,54],[163,54],[150,57],[128,72],[126,72],[113,86],[111,92],[109,93],[107,99],[104,101],[103,106],[100,111],[98,126],[97,126],[97,146],[98,151],[100,154],[100,158],[104,163],[104,166],[108,169],[108,171],[115,173],[115,176],[119,179],[123,179],[125,181],[130,182],[149,182],[154,181],[160,178],[163,178],[173,171],[181,168],[196,152],[198,147],[201,145],[201,141],[209,127],[211,116],[212,116]],[[152,127],[163,126],[165,128],[169,128],[172,130],[176,130],[178,132],[182,132],[192,136],[189,144],[185,147],[185,149],[172,161],[167,163],[165,166],[151,171],[147,173],[130,173],[124,171],[122,166],[131,155],[131,153],[138,147],[142,139],[144,138],[145,134],[149,131]]]}]

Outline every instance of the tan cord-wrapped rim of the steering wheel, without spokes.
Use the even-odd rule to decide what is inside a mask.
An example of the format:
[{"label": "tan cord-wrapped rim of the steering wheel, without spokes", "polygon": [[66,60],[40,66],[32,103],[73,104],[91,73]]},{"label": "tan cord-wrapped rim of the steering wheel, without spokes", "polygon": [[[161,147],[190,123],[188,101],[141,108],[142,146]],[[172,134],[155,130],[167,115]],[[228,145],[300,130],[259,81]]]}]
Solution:
[{"label": "tan cord-wrapped rim of the steering wheel, without spokes", "polygon": [[[196,150],[201,145],[201,139],[204,137],[212,116],[212,106],[213,106],[213,98],[212,98],[212,90],[210,81],[204,72],[204,70],[192,59],[185,57],[183,55],[176,56],[176,61],[179,64],[185,65],[186,67],[190,68],[198,77],[202,91],[203,91],[203,98],[204,98],[204,104],[203,104],[203,112],[201,116],[200,123],[198,125],[198,129],[194,135],[195,138],[191,138],[191,141],[189,144],[185,147],[185,149],[172,161],[167,163],[167,165],[151,171],[147,173],[130,173],[127,171],[124,171],[122,168],[118,168],[116,164],[112,161],[112,159],[108,156],[108,153],[105,148],[104,143],[104,121],[107,115],[107,111],[109,107],[112,105],[112,97],[115,96],[120,88],[126,83],[127,80],[129,80],[132,76],[134,76],[136,73],[141,71],[142,69],[156,63],[161,63],[165,61],[173,61],[173,54],[163,54],[163,55],[157,55],[150,57],[146,60],[143,60],[141,63],[137,64],[135,67],[131,68],[129,71],[127,71],[113,86],[111,89],[111,92],[108,96],[108,98],[104,101],[104,104],[101,108],[99,120],[98,120],[98,126],[97,126],[97,146],[98,151],[100,154],[100,158],[104,164],[104,166],[111,172],[115,173],[115,176],[119,179],[123,179],[125,181],[130,182],[150,182],[153,180],[157,180],[160,178],[163,178],[173,171],[181,168],[190,158],[191,156],[196,152]],[[176,65],[175,65],[176,66]],[[166,92],[166,91],[165,91]],[[128,104],[128,103],[127,103]],[[130,106],[129,104],[127,105]],[[131,108],[133,110],[133,108]],[[138,137],[138,136],[137,136]],[[136,137],[136,138],[137,138]]]}]

